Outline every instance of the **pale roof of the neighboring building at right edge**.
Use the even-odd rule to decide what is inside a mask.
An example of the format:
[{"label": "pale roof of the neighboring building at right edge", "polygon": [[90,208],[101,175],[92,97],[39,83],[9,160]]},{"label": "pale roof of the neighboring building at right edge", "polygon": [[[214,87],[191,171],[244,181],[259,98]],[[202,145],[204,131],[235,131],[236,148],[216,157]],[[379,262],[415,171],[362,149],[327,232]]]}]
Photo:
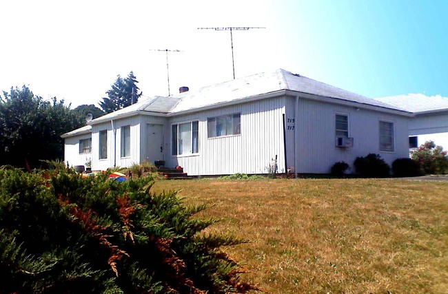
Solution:
[{"label": "pale roof of the neighboring building at right edge", "polygon": [[448,111],[448,97],[442,97],[440,95],[426,96],[425,94],[407,94],[375,98],[375,100],[401,107],[408,112],[414,112],[416,114],[444,110]]}]

